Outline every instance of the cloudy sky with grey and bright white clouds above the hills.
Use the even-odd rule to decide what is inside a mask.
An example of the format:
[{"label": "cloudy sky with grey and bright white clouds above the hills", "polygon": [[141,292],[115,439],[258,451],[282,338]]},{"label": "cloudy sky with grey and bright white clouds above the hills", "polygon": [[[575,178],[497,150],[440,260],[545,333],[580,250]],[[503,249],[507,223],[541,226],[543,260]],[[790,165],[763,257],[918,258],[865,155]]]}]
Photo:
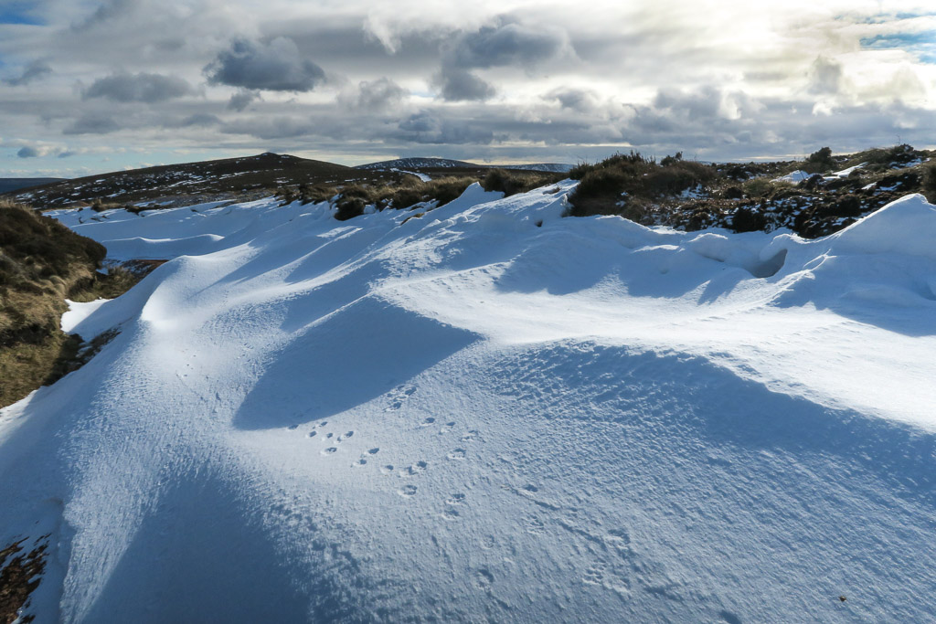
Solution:
[{"label": "cloudy sky with grey and bright white clouds above the hills", "polygon": [[0,177],[936,147],[931,0],[0,0]]}]

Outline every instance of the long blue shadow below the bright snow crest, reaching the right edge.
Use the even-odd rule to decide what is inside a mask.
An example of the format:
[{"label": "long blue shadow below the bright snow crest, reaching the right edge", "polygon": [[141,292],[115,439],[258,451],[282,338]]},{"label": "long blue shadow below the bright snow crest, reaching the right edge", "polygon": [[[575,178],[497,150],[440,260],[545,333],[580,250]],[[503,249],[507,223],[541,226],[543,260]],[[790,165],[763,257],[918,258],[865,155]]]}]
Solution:
[{"label": "long blue shadow below the bright snow crest, reaching the right edge", "polygon": [[[766,452],[802,465],[834,457],[936,508],[936,434],[919,428],[773,392],[696,356],[561,343],[502,366],[492,376],[502,394],[545,406],[538,413],[547,418],[619,423],[628,447],[638,439],[659,449],[690,443],[674,452],[731,448],[735,456]],[[693,447],[698,440],[704,446]]]}]

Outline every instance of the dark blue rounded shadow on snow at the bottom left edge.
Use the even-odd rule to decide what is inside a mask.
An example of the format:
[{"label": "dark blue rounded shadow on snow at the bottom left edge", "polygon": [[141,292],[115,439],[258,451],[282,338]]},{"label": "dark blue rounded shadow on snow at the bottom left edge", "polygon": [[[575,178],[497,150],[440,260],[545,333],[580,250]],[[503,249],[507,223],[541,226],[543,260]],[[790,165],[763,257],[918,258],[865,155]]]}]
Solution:
[{"label": "dark blue rounded shadow on snow at the bottom left edge", "polygon": [[[148,510],[82,619],[88,622],[300,622],[347,617],[341,592],[277,553],[237,484],[178,475]],[[317,604],[313,604],[312,602]],[[317,608],[315,608],[317,606]],[[316,613],[317,612],[317,613]]]}]

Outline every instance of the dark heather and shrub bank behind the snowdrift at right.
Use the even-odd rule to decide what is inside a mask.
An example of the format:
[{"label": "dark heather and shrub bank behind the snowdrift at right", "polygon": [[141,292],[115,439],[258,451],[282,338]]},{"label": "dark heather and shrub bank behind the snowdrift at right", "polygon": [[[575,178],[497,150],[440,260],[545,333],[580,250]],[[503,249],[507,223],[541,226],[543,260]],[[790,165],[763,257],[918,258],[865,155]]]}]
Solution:
[{"label": "dark heather and shrub bank behind the snowdrift at right", "polygon": [[[660,163],[636,152],[617,154],[573,169],[580,182],[570,214],[617,214],[683,230],[786,227],[815,238],[909,193],[936,200],[934,155],[909,145],[839,156],[824,147],[799,162],[704,165],[680,154]],[[797,170],[805,172],[803,180],[783,179]]]}]

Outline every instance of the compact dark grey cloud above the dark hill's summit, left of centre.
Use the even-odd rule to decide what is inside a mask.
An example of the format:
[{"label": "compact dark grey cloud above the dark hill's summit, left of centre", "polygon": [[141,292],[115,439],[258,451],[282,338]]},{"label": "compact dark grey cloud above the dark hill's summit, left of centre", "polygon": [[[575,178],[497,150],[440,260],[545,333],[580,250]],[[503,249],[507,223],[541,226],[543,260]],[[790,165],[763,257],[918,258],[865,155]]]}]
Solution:
[{"label": "compact dark grey cloud above the dark hill's summit, left of centre", "polygon": [[312,91],[325,80],[325,71],[300,58],[296,42],[285,36],[267,45],[235,39],[204,72],[210,84],[266,91]]}]

